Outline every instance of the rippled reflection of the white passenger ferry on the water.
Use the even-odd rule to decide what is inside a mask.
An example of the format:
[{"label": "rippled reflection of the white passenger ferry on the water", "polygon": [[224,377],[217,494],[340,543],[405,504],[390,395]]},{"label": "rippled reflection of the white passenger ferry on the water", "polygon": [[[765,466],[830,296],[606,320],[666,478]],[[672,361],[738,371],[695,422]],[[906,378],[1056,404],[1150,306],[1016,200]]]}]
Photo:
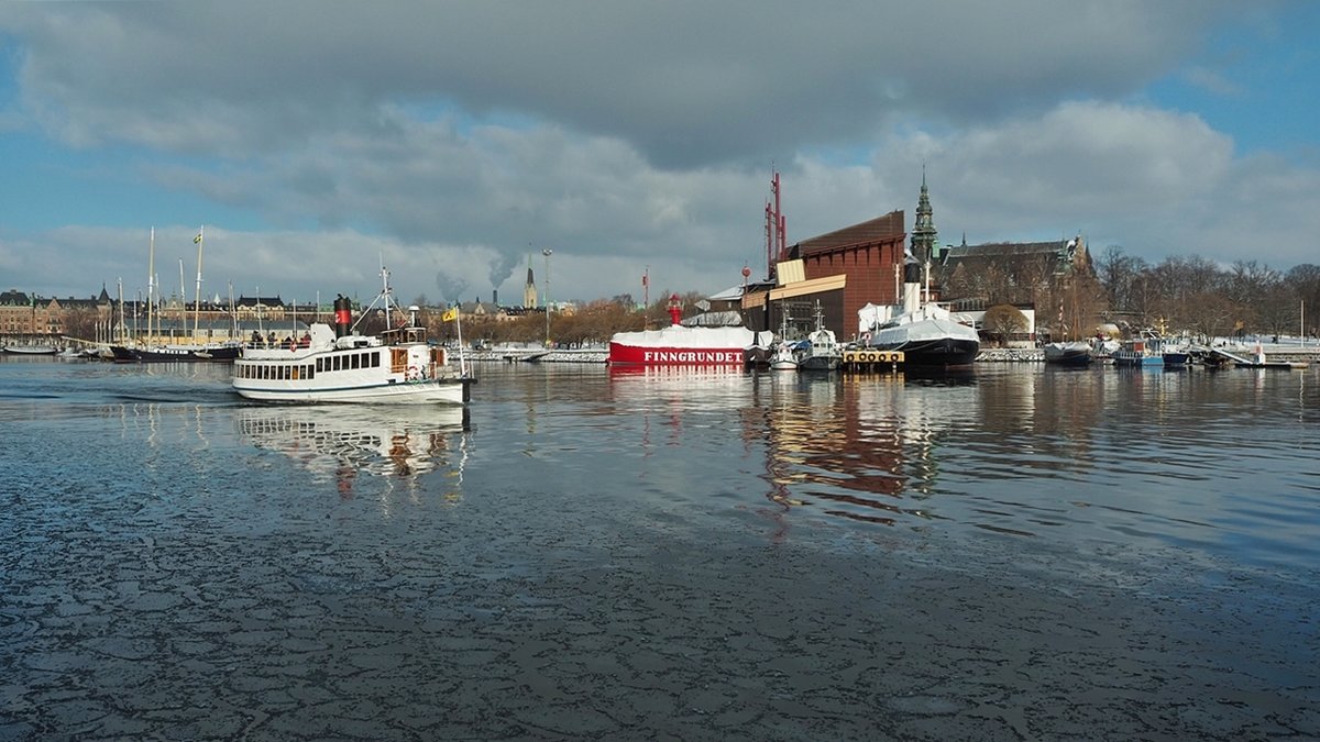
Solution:
[{"label": "rippled reflection of the white passenger ferry on the water", "polygon": [[363,474],[416,482],[454,467],[458,496],[466,459],[469,409],[457,405],[280,405],[242,408],[239,432],[253,445],[280,452],[318,479],[354,496]]}]

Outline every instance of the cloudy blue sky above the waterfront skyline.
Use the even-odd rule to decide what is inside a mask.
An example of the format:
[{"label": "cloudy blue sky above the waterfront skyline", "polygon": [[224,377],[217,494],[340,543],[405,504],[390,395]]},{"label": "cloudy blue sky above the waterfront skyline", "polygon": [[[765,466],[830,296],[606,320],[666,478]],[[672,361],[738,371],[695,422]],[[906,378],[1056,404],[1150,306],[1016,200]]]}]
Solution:
[{"label": "cloudy blue sky above the waterfront skyline", "polygon": [[710,294],[766,275],[775,172],[789,243],[911,230],[924,177],[941,243],[1287,271],[1317,33],[1311,0],[0,3],[0,290],[141,296],[154,230],[191,298],[205,228],[206,297]]}]

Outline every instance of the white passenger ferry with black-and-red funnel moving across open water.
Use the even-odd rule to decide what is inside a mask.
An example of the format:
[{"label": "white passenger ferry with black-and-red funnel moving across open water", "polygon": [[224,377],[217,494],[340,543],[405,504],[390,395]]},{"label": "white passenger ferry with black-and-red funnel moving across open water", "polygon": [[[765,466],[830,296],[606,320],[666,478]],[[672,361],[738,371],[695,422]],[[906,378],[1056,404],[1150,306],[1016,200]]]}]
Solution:
[{"label": "white passenger ferry with black-and-red funnel moving across open water", "polygon": [[257,401],[466,404],[475,378],[462,355],[455,367],[445,347],[429,345],[417,308],[405,313],[393,305],[388,272],[381,268],[381,275],[385,288],[362,317],[383,302],[391,329],[358,334],[352,302],[341,296],[334,302],[335,327],[313,322],[301,342],[244,347],[234,362],[234,391]]}]

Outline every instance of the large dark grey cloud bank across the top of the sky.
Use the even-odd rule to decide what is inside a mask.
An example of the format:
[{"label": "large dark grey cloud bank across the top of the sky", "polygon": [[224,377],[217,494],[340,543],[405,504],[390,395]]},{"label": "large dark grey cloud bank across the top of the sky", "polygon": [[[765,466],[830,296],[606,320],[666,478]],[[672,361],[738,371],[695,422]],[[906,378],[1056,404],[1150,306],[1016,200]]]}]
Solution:
[{"label": "large dark grey cloud bank across the top of the sky", "polygon": [[[65,140],[272,152],[389,136],[391,106],[556,121],[661,168],[1002,116],[1162,74],[1230,3],[428,3],[9,7],[24,92]],[[1195,11],[1195,12],[1193,12]]]}]

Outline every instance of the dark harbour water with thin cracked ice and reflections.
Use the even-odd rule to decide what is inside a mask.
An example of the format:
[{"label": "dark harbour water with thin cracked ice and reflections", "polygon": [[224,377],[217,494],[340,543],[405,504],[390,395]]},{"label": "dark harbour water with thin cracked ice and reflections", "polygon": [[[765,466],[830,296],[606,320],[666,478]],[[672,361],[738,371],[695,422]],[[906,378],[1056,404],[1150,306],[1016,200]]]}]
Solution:
[{"label": "dark harbour water with thin cracked ice and reflections", "polygon": [[1320,375],[0,360],[0,739],[1320,738]]}]

